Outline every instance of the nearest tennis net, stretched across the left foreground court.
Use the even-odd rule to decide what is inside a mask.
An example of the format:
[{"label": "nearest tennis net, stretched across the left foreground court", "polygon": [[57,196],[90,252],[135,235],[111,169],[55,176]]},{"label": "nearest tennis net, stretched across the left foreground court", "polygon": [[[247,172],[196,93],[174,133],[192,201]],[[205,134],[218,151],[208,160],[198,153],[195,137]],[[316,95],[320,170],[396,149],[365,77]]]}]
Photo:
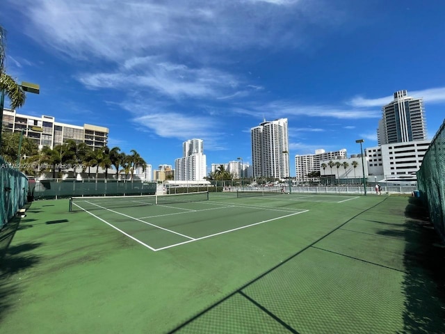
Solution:
[{"label": "nearest tennis net, stretched across the left foreground court", "polygon": [[172,195],[141,196],[83,196],[70,198],[70,212],[94,209],[115,209],[123,207],[143,207],[146,205],[166,205],[209,200],[208,191],[196,193],[175,193]]}]

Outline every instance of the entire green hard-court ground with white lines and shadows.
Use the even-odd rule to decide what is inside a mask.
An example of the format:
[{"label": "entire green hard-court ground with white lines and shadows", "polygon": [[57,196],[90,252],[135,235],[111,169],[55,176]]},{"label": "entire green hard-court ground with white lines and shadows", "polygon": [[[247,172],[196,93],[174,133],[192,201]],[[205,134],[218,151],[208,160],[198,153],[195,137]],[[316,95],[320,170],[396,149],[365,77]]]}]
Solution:
[{"label": "entire green hard-court ground with white lines and shadows", "polygon": [[445,333],[445,251],[419,204],[32,202],[0,234],[0,333]]}]

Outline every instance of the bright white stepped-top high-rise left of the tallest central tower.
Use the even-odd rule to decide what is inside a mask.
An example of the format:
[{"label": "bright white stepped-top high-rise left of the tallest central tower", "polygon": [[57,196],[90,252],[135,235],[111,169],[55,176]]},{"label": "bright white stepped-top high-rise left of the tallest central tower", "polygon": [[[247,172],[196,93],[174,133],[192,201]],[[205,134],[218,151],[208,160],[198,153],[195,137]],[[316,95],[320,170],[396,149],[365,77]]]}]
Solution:
[{"label": "bright white stepped-top high-rise left of the tallest central tower", "polygon": [[206,177],[206,156],[202,139],[182,144],[184,156],[175,160],[176,181],[202,181]]}]

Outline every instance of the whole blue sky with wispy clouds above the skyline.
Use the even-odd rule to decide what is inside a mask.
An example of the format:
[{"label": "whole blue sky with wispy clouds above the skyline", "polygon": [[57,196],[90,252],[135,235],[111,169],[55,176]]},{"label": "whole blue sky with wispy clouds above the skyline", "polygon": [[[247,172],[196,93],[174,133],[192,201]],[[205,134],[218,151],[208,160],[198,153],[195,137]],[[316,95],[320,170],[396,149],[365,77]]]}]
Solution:
[{"label": "whole blue sky with wispy clouds above the skyline", "polygon": [[[40,84],[17,112],[110,129],[156,169],[204,140],[251,162],[250,128],[289,119],[291,157],[377,145],[396,90],[445,116],[445,2],[3,0],[8,74]],[[295,168],[291,168],[295,175]]]}]

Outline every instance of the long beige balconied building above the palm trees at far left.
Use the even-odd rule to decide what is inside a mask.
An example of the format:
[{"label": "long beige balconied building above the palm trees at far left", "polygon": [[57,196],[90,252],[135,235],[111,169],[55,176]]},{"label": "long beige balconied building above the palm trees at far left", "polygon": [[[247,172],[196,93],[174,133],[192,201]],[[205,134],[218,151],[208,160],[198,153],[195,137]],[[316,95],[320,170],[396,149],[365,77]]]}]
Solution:
[{"label": "long beige balconied building above the palm trees at far left", "polygon": [[[35,131],[35,127],[41,131]],[[22,132],[38,145],[54,148],[71,139],[76,143],[86,143],[92,149],[102,148],[108,143],[109,130],[106,127],[84,124],[83,127],[56,122],[53,116],[28,116],[15,110],[3,109],[3,130]]]}]

